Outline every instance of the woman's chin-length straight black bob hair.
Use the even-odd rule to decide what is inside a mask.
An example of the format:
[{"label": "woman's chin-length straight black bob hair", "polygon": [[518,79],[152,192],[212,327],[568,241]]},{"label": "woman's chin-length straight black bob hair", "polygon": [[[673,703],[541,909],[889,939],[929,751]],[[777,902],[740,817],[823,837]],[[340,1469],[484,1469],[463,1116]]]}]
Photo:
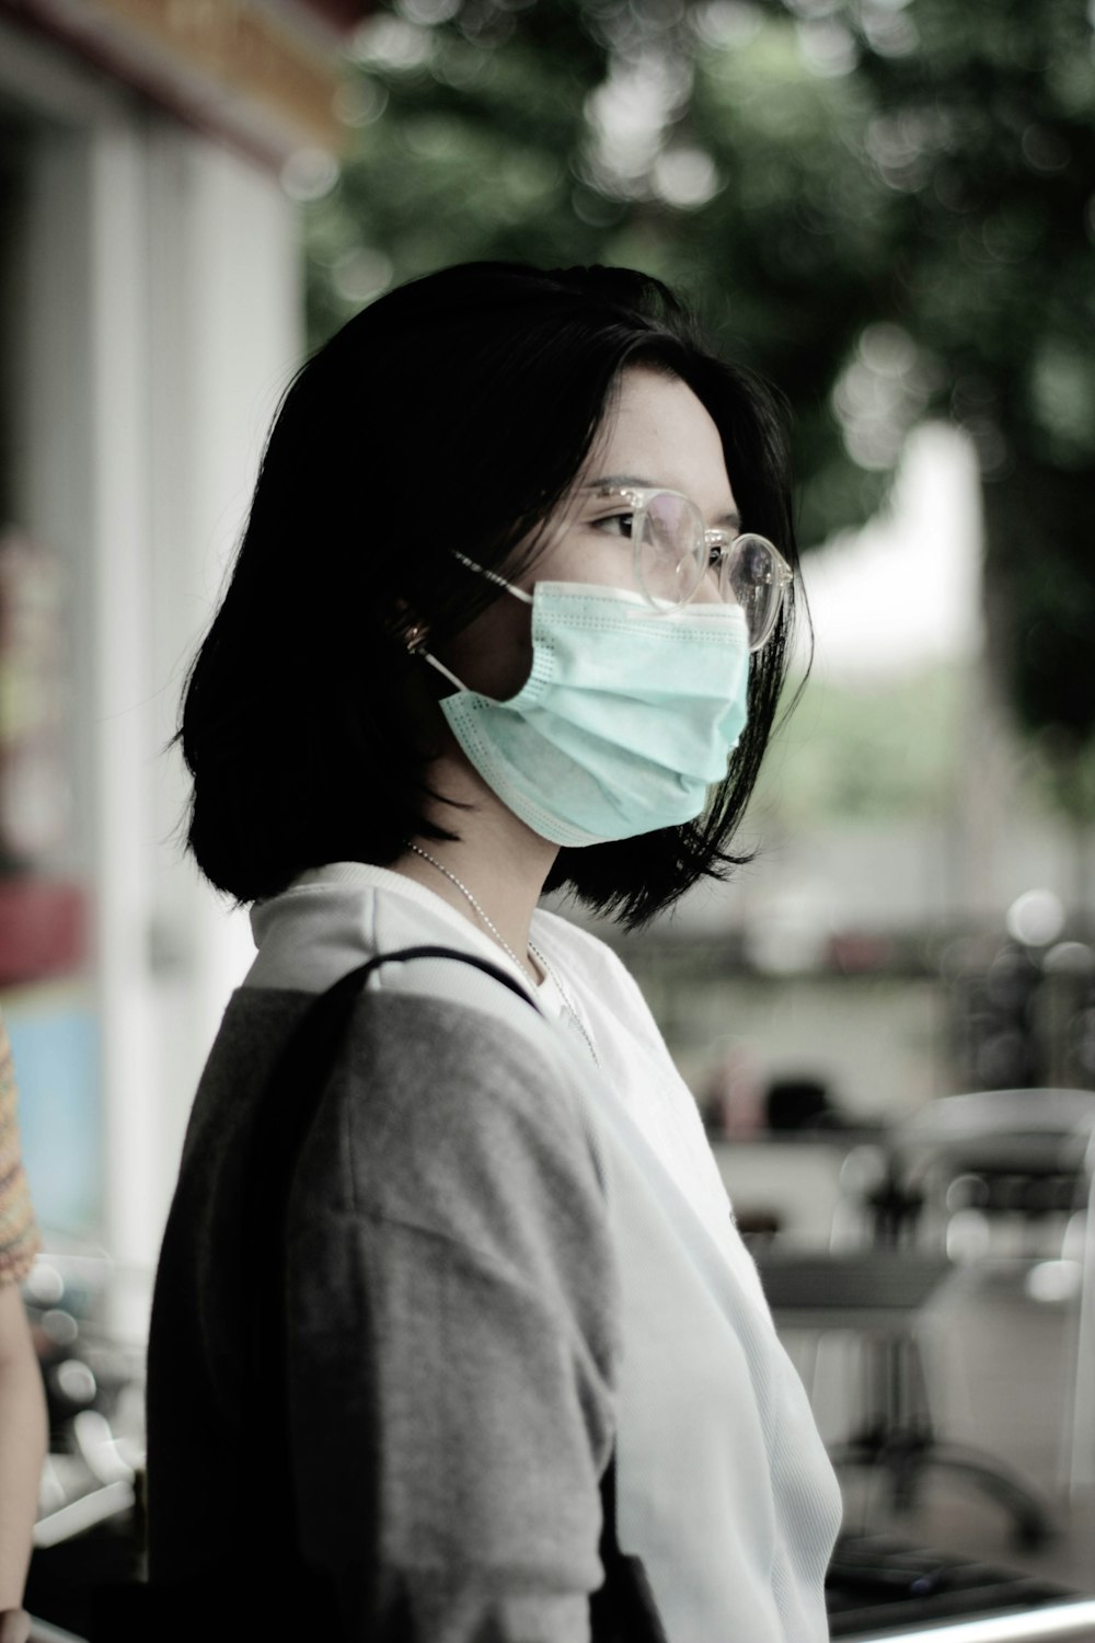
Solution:
[{"label": "woman's chin-length straight black bob hair", "polygon": [[[386,866],[425,820],[440,715],[407,651],[465,628],[535,562],[622,368],[686,383],[714,419],[744,531],[796,567],[780,403],[706,347],[660,281],[621,268],[468,263],[355,315],[297,373],[263,457],[240,554],[187,680],[179,739],[194,779],[187,843],[238,902],[328,861]],[[749,725],[696,822],[561,849],[547,889],[634,928],[701,877],[754,789],[795,614],[750,662]],[[424,675],[430,675],[430,682]]]}]

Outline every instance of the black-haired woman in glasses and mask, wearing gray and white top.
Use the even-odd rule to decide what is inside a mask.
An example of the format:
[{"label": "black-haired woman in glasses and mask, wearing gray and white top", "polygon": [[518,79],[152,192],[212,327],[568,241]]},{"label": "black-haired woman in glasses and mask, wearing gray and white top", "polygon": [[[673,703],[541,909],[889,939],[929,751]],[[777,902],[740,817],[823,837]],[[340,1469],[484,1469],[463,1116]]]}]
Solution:
[{"label": "black-haired woman in glasses and mask, wearing gray and white top", "polygon": [[[745,534],[744,534],[745,532]],[[778,549],[772,545],[778,542]],[[258,958],[197,1096],[149,1352],[153,1581],[248,1512],[263,1078],[374,955],[289,1216],[299,1541],[348,1638],[589,1635],[609,1461],[671,1643],[827,1635],[839,1502],[634,928],[724,874],[793,565],[768,396],[657,281],[453,268],[300,371],[192,670],[189,841]]]}]

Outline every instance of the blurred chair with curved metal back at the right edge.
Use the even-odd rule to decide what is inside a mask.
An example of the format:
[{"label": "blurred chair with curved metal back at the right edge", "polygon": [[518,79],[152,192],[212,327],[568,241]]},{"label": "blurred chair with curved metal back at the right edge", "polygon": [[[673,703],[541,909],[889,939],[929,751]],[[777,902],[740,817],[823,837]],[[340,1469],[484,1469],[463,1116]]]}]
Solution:
[{"label": "blurred chair with curved metal back at the right edge", "polygon": [[1057,1277],[1075,1277],[1064,1454],[1072,1492],[1095,1484],[1093,1160],[1095,1093],[1077,1089],[947,1096],[849,1148],[829,1257],[811,1260],[795,1295],[790,1270],[770,1273],[781,1286],[772,1300],[783,1328],[854,1331],[867,1344],[860,1424],[832,1449],[837,1466],[882,1467],[896,1507],[913,1500],[928,1467],[962,1474],[1008,1508],[1023,1541],[1044,1538],[1046,1508],[1023,1477],[939,1438],[921,1362],[931,1262],[1006,1254],[1061,1262]]}]

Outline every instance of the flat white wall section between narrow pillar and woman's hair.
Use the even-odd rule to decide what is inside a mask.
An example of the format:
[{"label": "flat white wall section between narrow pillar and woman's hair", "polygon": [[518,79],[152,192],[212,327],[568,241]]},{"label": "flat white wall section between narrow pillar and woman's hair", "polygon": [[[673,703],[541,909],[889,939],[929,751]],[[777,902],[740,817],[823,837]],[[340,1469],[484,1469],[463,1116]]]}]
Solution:
[{"label": "flat white wall section between narrow pillar and woman's hair", "polygon": [[153,621],[151,918],[161,1130],[156,1209],[166,1211],[182,1127],[228,994],[253,951],[182,856],[186,780],[179,692],[250,506],[269,419],[300,361],[294,212],[277,184],[223,150],[161,127],[148,148]]}]

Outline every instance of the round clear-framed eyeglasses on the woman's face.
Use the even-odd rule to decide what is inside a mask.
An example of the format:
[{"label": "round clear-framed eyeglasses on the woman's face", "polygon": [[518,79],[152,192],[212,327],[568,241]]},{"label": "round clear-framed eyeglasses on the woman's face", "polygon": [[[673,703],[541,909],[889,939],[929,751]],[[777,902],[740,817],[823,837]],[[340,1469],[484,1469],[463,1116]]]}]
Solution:
[{"label": "round clear-framed eyeglasses on the woman's face", "polygon": [[630,485],[591,486],[599,499],[625,503],[614,514],[630,539],[635,587],[657,611],[670,614],[696,598],[704,578],[727,605],[739,605],[749,626],[749,649],[772,637],[793,573],[767,537],[749,531],[708,531],[703,514],[680,491]]}]

